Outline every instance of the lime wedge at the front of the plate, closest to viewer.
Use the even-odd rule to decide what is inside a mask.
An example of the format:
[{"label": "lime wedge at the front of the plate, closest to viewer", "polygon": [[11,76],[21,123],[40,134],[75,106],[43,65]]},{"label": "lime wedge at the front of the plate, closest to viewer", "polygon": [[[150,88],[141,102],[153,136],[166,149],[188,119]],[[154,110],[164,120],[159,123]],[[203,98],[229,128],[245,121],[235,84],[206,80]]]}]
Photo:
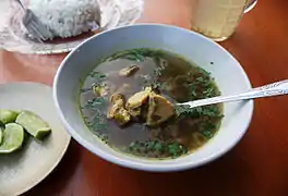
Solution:
[{"label": "lime wedge at the front of the plate, closest to viewer", "polygon": [[21,148],[24,142],[24,130],[16,123],[9,123],[2,133],[2,144],[0,145],[0,154],[10,154]]}]

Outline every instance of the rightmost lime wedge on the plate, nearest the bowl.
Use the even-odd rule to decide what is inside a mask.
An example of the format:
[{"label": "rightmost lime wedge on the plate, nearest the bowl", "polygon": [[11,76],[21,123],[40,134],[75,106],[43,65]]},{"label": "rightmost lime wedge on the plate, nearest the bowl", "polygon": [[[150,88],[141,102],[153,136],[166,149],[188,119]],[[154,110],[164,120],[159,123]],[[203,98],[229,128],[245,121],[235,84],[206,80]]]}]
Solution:
[{"label": "rightmost lime wedge on the plate, nearest the bowl", "polygon": [[16,123],[23,126],[34,138],[43,140],[51,133],[48,123],[39,115],[31,111],[22,111],[17,118]]}]

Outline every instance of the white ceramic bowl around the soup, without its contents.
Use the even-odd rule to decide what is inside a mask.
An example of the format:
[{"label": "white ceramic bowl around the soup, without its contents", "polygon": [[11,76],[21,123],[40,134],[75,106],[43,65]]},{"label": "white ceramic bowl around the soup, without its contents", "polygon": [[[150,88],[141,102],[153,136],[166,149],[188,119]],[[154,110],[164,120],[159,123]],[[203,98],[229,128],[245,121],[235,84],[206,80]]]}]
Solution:
[{"label": "white ceramic bowl around the soup, without its contents", "polygon": [[217,135],[194,154],[178,159],[141,159],[115,151],[103,144],[82,120],[79,107],[80,81],[86,77],[99,59],[133,48],[168,50],[193,61],[212,73],[223,95],[251,88],[238,61],[219,45],[196,33],[168,25],[140,24],[98,34],[64,59],[53,84],[53,98],[60,119],[82,146],[119,166],[166,172],[207,163],[227,152],[242,138],[252,118],[253,101],[225,103],[225,118]]}]

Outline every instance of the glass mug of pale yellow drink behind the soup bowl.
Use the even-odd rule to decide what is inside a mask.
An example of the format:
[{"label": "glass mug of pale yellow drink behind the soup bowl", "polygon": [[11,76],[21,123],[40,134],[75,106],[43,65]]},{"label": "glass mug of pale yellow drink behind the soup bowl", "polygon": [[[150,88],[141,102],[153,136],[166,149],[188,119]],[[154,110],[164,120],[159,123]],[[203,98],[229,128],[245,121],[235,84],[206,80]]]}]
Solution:
[{"label": "glass mug of pale yellow drink behind the soup bowl", "polygon": [[216,41],[226,40],[236,30],[243,13],[257,0],[194,0],[192,29]]}]

